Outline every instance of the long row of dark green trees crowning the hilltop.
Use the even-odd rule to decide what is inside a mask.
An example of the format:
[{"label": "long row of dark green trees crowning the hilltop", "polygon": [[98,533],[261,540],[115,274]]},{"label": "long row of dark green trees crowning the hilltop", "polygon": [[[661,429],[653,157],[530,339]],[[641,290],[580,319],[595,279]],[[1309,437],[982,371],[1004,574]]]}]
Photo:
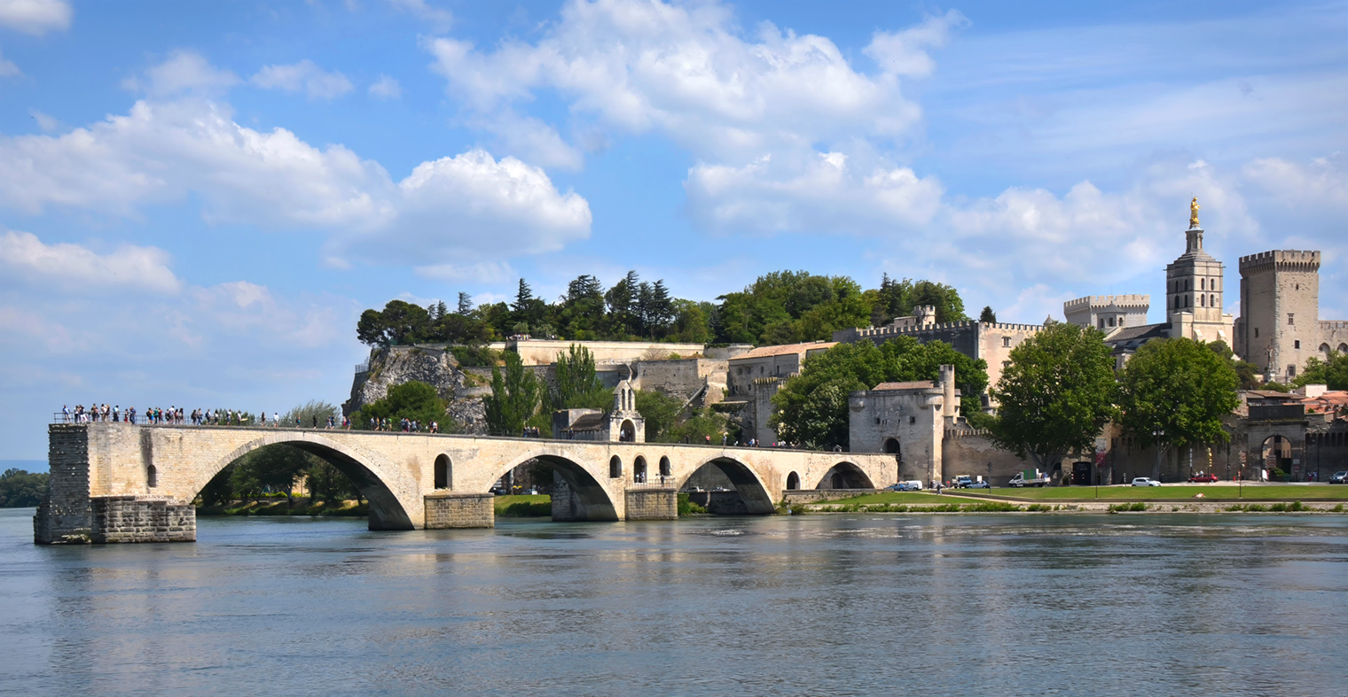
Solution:
[{"label": "long row of dark green trees crowning the hilltop", "polygon": [[391,300],[367,309],[356,336],[369,346],[411,343],[479,344],[516,334],[570,340],[735,342],[776,344],[829,339],[837,330],[883,324],[936,307],[937,322],[968,319],[954,288],[933,281],[892,281],[863,291],[847,276],[780,270],[760,276],[718,303],[670,296],[663,280],[648,283],[635,270],[604,288],[590,274],[576,277],[554,303],[534,295],[524,279],[511,303],[473,305],[458,293],[453,312],[445,303],[421,308]]}]

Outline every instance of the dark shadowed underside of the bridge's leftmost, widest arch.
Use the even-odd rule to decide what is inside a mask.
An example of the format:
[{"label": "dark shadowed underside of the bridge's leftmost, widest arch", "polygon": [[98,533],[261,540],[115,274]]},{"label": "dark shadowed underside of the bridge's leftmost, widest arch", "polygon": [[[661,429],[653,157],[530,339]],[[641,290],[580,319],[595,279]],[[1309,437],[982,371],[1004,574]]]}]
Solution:
[{"label": "dark shadowed underside of the bridge's leftmost, widest arch", "polygon": [[341,474],[346,475],[360,495],[369,502],[369,529],[371,530],[412,530],[411,515],[392,488],[384,483],[383,478],[361,459],[332,440],[310,433],[287,433],[284,431],[268,435],[245,443],[224,456],[208,471],[204,480],[193,483],[191,499],[201,494],[201,490],[210,483],[221,470],[239,460],[244,455],[268,445],[291,445],[310,455],[315,455],[328,464],[332,464]]}]

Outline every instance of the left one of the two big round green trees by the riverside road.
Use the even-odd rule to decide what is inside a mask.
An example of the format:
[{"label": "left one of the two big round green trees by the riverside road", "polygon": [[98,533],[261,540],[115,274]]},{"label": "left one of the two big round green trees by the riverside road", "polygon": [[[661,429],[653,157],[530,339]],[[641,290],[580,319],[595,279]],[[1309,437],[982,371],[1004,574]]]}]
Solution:
[{"label": "left one of the two big round green trees by the riverside road", "polygon": [[992,389],[992,441],[1051,472],[1073,451],[1092,447],[1115,414],[1113,359],[1095,328],[1054,323],[1011,350]]}]

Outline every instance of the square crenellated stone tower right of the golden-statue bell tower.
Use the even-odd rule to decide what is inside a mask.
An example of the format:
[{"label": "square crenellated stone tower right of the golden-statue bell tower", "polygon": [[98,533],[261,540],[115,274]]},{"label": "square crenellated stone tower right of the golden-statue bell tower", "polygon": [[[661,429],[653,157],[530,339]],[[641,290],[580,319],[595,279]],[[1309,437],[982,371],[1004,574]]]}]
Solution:
[{"label": "square crenellated stone tower right of the golden-statue bell tower", "polygon": [[1297,377],[1324,343],[1320,252],[1283,249],[1240,257],[1236,354],[1281,382]]}]

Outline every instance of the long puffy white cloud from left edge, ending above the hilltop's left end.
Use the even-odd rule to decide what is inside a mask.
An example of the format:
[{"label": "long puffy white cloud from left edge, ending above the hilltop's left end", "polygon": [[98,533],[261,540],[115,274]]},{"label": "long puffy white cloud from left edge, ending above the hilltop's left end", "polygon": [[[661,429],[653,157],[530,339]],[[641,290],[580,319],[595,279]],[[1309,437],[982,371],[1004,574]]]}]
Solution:
[{"label": "long puffy white cloud from left edge, ending above the hilltop's left end", "polygon": [[0,136],[0,205],[30,214],[69,206],[136,215],[147,205],[200,196],[208,222],[330,233],[325,256],[348,250],[417,265],[456,256],[557,250],[589,235],[589,203],[558,191],[543,170],[472,149],[394,180],[342,145],[255,131],[222,102],[186,94],[137,101],[58,136]]}]

